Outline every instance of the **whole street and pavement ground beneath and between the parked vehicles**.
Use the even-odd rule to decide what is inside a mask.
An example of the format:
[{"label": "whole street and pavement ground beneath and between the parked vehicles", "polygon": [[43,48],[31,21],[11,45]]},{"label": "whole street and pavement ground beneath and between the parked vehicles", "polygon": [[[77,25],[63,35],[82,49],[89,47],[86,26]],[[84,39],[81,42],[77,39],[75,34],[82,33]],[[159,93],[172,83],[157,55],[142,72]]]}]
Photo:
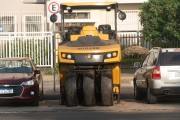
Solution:
[{"label": "whole street and pavement ground beneath and between the parked vehicles", "polygon": [[122,75],[121,101],[114,106],[59,105],[59,81],[44,76],[45,100],[38,107],[26,103],[0,103],[0,120],[179,120],[180,99],[159,99],[157,104],[133,98],[132,74]]}]

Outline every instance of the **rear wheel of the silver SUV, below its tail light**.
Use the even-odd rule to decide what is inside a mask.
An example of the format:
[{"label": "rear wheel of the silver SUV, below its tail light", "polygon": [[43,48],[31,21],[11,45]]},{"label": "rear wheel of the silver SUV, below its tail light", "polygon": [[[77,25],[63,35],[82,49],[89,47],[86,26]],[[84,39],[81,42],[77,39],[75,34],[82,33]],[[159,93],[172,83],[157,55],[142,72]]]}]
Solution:
[{"label": "rear wheel of the silver SUV, below its tail light", "polygon": [[157,97],[151,93],[150,87],[147,89],[147,102],[148,104],[155,104],[157,102]]}]

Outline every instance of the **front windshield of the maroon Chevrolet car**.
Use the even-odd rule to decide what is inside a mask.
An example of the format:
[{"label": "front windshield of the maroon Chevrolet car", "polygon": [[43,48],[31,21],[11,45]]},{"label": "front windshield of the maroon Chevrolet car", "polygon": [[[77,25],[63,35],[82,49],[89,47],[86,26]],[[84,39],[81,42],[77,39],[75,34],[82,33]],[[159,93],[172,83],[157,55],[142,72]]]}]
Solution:
[{"label": "front windshield of the maroon Chevrolet car", "polygon": [[3,60],[0,73],[32,73],[32,66],[28,60]]}]

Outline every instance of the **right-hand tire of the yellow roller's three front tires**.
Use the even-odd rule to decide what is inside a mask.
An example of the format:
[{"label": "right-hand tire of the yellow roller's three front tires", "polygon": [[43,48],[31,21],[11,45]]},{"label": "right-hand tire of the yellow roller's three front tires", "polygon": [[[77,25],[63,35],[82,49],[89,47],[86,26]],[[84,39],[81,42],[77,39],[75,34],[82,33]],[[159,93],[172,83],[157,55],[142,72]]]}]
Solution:
[{"label": "right-hand tire of the yellow roller's three front tires", "polygon": [[112,73],[101,73],[101,101],[104,106],[113,105]]}]

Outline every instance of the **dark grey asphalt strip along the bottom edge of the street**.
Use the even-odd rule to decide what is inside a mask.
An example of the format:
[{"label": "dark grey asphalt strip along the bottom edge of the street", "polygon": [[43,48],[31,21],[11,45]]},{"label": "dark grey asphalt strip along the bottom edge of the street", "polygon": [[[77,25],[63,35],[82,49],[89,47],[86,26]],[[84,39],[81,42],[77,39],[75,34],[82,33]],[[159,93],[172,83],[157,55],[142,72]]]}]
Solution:
[{"label": "dark grey asphalt strip along the bottom edge of the street", "polygon": [[54,111],[1,113],[1,120],[179,120],[179,113],[112,113],[93,111]]}]

